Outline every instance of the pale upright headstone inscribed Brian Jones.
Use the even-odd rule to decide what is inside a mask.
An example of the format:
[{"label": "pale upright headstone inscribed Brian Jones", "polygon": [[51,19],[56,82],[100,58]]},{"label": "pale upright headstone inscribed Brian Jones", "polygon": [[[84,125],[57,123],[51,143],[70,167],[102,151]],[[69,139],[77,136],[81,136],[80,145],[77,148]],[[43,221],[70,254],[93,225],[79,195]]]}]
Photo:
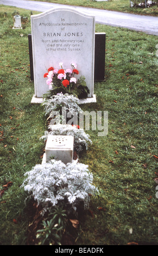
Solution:
[{"label": "pale upright headstone inscribed Brian Jones", "polygon": [[77,64],[93,97],[95,19],[73,8],[55,8],[31,16],[35,97],[48,92],[43,78],[51,66]]}]

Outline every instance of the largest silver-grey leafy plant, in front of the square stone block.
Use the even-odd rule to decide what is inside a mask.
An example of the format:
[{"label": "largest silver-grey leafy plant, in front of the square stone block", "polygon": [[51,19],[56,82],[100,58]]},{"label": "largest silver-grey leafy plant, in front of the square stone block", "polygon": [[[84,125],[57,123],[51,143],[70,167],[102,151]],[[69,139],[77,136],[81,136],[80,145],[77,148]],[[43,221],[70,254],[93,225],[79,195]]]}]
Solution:
[{"label": "largest silver-grey leafy plant, in front of the square stone block", "polygon": [[42,206],[43,213],[59,203],[71,205],[76,210],[79,202],[83,202],[84,208],[88,209],[90,194],[97,192],[92,185],[93,175],[83,163],[64,164],[50,160],[36,164],[24,175],[27,178],[22,186]]}]

